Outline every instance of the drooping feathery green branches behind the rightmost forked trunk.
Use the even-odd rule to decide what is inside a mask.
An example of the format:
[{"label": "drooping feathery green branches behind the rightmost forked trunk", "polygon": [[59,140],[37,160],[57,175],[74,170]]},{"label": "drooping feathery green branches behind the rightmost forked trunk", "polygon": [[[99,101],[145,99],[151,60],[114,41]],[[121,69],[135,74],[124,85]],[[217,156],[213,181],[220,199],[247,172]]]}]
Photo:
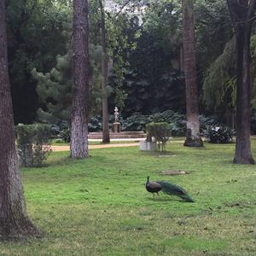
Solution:
[{"label": "drooping feathery green branches behind the rightmost forked trunk", "polygon": [[[207,69],[203,84],[203,98],[208,108],[235,108],[236,106],[236,44],[232,39],[224,51]],[[252,108],[256,108],[256,34],[251,37]]]}]

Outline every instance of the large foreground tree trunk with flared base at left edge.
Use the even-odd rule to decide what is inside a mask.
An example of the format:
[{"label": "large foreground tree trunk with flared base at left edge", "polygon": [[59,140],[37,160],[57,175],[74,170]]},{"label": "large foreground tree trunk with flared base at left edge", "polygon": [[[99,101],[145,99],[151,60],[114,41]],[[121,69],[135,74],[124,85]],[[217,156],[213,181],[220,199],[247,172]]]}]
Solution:
[{"label": "large foreground tree trunk with flared base at left edge", "polygon": [[0,240],[39,235],[26,214],[15,148],[4,2],[0,1]]}]

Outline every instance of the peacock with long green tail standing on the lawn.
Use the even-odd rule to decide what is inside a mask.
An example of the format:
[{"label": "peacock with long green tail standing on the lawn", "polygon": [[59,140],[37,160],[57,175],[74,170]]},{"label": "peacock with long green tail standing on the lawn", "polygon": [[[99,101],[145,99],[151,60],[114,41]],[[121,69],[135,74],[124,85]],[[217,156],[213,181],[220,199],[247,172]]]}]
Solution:
[{"label": "peacock with long green tail standing on the lawn", "polygon": [[150,182],[149,176],[146,183],[146,189],[148,190],[148,192],[153,193],[153,196],[154,196],[154,193],[158,195],[158,192],[162,190],[164,193],[168,195],[177,195],[180,198],[182,198],[184,201],[194,202],[193,199],[188,195],[188,193],[183,188],[175,184],[168,183],[166,181]]}]

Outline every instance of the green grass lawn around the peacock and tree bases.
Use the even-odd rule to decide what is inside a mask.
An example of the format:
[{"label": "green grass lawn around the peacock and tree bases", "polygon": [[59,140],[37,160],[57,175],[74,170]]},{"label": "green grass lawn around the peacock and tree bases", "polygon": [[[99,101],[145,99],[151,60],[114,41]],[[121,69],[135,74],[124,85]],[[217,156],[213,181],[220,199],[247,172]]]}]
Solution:
[{"label": "green grass lawn around the peacock and tree bases", "polygon": [[[0,255],[255,255],[256,166],[233,165],[234,144],[184,148],[172,156],[138,147],[54,153],[23,169],[27,209],[42,239],[0,243]],[[253,140],[256,158],[256,141]],[[187,175],[162,176],[166,170]],[[146,177],[177,183],[195,203],[160,194]]]}]

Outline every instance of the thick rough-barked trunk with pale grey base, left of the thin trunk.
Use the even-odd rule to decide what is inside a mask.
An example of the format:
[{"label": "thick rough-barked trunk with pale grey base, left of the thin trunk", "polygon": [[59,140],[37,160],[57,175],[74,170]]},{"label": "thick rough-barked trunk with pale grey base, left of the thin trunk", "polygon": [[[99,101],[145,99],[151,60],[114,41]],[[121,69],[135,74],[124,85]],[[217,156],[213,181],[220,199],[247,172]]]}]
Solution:
[{"label": "thick rough-barked trunk with pale grey base, left of the thin trunk", "polygon": [[73,1],[73,110],[70,151],[72,158],[88,152],[89,27],[87,0]]}]

